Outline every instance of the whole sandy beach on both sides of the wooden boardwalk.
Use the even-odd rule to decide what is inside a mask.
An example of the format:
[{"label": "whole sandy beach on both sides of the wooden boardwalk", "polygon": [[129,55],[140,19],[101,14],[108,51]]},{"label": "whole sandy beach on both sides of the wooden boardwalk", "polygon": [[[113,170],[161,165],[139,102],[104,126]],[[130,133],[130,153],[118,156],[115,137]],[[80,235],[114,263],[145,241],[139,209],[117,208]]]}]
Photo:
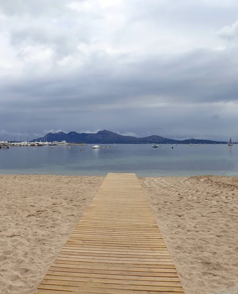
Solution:
[{"label": "whole sandy beach on both sides of the wooden boardwalk", "polygon": [[[35,292],[102,181],[90,176],[0,176],[1,294]],[[140,182],[185,293],[238,294],[238,178]]]}]

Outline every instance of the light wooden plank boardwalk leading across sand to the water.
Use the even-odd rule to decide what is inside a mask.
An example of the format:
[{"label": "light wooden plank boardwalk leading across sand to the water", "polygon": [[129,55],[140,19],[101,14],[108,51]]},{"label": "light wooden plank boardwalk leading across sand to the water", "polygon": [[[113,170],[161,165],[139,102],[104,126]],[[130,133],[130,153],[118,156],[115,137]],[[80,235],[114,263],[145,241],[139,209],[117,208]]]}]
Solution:
[{"label": "light wooden plank boardwalk leading across sand to the water", "polygon": [[134,173],[109,173],[35,294],[181,294]]}]

